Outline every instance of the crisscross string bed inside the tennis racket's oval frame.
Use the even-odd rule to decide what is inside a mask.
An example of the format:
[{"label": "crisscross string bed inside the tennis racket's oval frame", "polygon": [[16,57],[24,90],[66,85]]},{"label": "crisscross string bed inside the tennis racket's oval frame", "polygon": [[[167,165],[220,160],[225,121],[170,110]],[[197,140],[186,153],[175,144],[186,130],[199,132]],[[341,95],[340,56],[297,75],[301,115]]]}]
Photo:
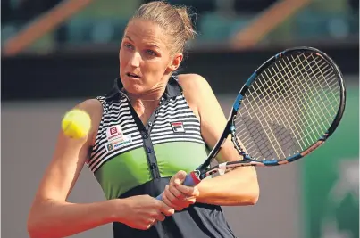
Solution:
[{"label": "crisscross string bed inside the tennis racket's oval frame", "polygon": [[339,83],[329,63],[316,54],[289,55],[248,88],[236,132],[253,157],[284,159],[319,139],[338,108]]}]

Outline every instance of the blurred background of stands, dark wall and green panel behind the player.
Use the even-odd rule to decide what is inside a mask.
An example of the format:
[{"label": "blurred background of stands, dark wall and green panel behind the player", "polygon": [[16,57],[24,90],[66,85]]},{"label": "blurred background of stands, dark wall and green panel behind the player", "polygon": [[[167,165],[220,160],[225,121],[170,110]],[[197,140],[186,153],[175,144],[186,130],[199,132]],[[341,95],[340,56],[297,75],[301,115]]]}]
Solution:
[{"label": "blurred background of stands, dark wall and green panel behind the player", "polygon": [[[123,29],[139,0],[2,0],[2,237],[29,237],[26,220],[54,150],[63,113],[106,94],[118,77]],[[260,200],[224,207],[247,238],[359,237],[358,0],[171,0],[191,7],[198,37],[183,72],[204,76],[230,111],[250,74],[293,46],[313,46],[339,64],[347,85],[343,120],[306,160],[257,168]],[[84,167],[70,201],[101,201]],[[73,237],[112,237],[111,225]]]}]

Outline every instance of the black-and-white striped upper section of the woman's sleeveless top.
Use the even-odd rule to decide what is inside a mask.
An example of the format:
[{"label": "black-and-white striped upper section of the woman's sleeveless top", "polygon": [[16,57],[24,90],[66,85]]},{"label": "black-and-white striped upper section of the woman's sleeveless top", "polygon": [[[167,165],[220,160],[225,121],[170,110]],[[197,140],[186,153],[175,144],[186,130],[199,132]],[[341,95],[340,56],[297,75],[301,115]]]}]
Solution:
[{"label": "black-and-white striped upper section of the woman's sleeveless top", "polygon": [[[141,130],[142,122],[134,115],[130,100],[121,94],[120,78],[116,80],[112,94],[99,96],[97,100],[103,104],[103,117],[88,161],[88,167],[93,172],[117,154],[146,147],[144,139],[147,139],[147,135],[153,146],[169,142],[205,144],[200,133],[200,122],[189,108],[176,76],[170,78],[158,108],[145,125],[146,131]],[[120,137],[116,130],[125,138],[117,144],[113,143]]]}]

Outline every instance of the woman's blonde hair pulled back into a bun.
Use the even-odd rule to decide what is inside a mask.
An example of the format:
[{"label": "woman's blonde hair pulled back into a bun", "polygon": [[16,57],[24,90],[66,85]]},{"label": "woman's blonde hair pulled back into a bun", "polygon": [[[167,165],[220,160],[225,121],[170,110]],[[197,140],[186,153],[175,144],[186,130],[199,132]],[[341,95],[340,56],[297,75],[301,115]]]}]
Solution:
[{"label": "woman's blonde hair pulled back into a bun", "polygon": [[194,39],[194,30],[186,6],[174,6],[164,1],[142,4],[132,19],[152,21],[158,24],[172,41],[172,53],[183,53],[185,45]]}]

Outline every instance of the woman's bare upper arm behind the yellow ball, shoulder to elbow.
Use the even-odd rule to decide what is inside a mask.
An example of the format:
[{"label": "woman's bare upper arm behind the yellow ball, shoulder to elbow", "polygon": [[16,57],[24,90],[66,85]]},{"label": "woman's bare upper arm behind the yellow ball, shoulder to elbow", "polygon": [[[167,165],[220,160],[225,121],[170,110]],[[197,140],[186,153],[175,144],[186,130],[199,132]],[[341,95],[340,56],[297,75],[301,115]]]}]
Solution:
[{"label": "woman's bare upper arm behind the yellow ball, shoulder to elbow", "polygon": [[36,194],[35,202],[44,200],[66,201],[80,171],[89,157],[102,116],[102,105],[96,99],[78,104],[75,108],[87,111],[91,129],[87,136],[71,139],[60,130],[55,144],[53,159],[46,168]]}]

